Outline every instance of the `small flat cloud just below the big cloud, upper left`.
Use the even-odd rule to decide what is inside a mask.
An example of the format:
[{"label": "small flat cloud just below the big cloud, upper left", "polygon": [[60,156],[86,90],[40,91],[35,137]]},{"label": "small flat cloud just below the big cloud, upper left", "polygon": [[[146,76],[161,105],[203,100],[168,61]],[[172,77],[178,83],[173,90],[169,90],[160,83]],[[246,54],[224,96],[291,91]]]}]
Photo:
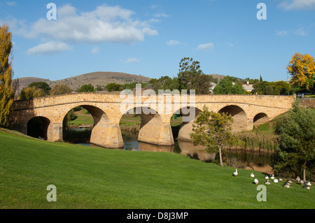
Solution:
[{"label": "small flat cloud just below the big cloud, upper left", "polygon": [[54,41],[36,45],[34,48],[27,50],[28,55],[54,55],[64,50],[71,50],[65,43]]}]

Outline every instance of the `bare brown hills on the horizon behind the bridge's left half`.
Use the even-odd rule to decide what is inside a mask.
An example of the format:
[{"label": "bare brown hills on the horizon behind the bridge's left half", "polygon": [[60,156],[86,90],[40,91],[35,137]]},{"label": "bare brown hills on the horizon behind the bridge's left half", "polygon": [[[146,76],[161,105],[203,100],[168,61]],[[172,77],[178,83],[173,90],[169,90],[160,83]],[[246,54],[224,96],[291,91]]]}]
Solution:
[{"label": "bare brown hills on the horizon behind the bridge's left half", "polygon": [[32,82],[47,82],[50,87],[57,83],[64,83],[68,85],[73,91],[76,91],[80,86],[86,84],[92,84],[94,87],[97,85],[106,86],[111,82],[123,85],[130,82],[148,82],[151,78],[147,78],[141,75],[134,75],[129,73],[120,72],[93,72],[85,73],[82,75],[76,75],[71,78],[62,80],[48,80],[43,78],[19,78],[18,92],[24,87],[27,87]]}]

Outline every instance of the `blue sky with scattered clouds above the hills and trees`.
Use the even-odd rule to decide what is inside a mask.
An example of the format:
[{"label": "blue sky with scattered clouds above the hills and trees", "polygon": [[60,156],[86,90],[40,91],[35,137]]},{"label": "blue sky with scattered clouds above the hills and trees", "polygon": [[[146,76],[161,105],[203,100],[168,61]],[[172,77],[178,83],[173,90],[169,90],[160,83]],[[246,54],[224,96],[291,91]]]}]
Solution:
[{"label": "blue sky with scattered clouds above the hills and trees", "polygon": [[[48,20],[48,3],[57,20]],[[258,20],[265,3],[267,20]],[[1,1],[15,78],[94,71],[174,77],[183,57],[206,74],[286,80],[295,52],[315,57],[315,0]]]}]

